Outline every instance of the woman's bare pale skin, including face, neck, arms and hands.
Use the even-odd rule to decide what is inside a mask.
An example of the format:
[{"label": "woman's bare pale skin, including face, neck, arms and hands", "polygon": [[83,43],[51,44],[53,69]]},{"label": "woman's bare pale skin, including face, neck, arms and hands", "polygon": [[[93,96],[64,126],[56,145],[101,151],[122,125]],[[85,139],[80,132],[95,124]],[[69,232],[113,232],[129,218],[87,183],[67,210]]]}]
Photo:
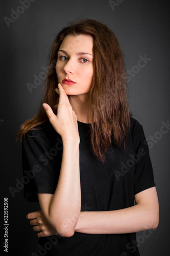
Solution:
[{"label": "woman's bare pale skin, including face, neck, arms and hands", "polygon": [[[70,44],[76,47],[69,48]],[[155,187],[136,194],[136,205],[129,208],[80,211],[80,138],[77,120],[88,123],[87,96],[93,75],[92,47],[91,36],[65,37],[56,63],[59,81],[56,93],[60,95],[57,116],[49,105],[43,104],[54,129],[62,137],[63,156],[55,194],[38,194],[41,210],[27,215],[34,231],[38,231],[38,237],[56,234],[71,237],[75,231],[91,234],[130,233],[158,226],[159,204]],[[76,83],[69,86],[62,82],[63,79]]]}]

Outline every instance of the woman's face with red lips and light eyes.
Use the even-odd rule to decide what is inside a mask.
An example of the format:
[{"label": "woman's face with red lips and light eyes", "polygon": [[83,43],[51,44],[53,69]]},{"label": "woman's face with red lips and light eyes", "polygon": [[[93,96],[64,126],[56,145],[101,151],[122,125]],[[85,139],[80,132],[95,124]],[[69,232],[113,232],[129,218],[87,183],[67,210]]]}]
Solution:
[{"label": "woman's face with red lips and light eyes", "polygon": [[93,38],[67,35],[58,51],[56,73],[67,95],[89,92],[93,76]]}]

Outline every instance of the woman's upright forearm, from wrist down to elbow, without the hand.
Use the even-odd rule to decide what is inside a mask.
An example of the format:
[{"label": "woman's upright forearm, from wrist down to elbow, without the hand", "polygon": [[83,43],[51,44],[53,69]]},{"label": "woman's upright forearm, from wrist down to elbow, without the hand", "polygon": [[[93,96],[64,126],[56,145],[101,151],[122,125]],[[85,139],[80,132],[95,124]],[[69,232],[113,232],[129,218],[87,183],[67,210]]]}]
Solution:
[{"label": "woman's upright forearm, from wrist down to elbow, without the hand", "polygon": [[44,198],[39,199],[40,206],[43,201],[46,219],[56,227],[60,235],[74,234],[81,210],[79,140],[63,143],[60,176],[54,195],[50,202],[47,200],[48,207],[44,206]]}]

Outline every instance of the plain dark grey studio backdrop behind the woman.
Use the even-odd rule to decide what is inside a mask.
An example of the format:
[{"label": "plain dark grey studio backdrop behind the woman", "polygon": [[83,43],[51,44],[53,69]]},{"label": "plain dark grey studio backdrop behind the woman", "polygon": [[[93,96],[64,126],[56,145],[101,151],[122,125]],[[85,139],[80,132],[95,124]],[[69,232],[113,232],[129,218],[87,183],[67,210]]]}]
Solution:
[{"label": "plain dark grey studio backdrop behind the woman", "polygon": [[[137,233],[141,256],[169,253],[169,2],[147,0],[1,1],[1,250],[29,256],[38,237],[26,219],[39,210],[23,201],[19,126],[40,103],[47,55],[59,30],[77,18],[109,26],[125,56],[130,111],[148,139],[160,204],[157,230]],[[17,185],[20,184],[20,185]],[[13,193],[10,191],[13,189]],[[4,229],[8,198],[8,230]]]}]

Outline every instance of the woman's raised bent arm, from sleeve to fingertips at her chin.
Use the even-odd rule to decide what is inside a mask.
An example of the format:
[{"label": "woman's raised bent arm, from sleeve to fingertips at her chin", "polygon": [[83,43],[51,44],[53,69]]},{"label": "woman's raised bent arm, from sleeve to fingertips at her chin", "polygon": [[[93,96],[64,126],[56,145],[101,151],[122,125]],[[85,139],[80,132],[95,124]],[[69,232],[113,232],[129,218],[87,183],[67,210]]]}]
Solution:
[{"label": "woman's raised bent arm, from sleeve to fingertips at her chin", "polygon": [[[54,195],[38,194],[38,199],[46,220],[55,227],[60,236],[70,237],[75,232],[81,210],[80,137],[77,116],[60,84],[59,90],[56,91],[60,94],[57,116],[49,105],[43,104],[43,106],[54,129],[62,137],[63,153],[60,176]],[[70,222],[72,218],[74,222]]]}]

